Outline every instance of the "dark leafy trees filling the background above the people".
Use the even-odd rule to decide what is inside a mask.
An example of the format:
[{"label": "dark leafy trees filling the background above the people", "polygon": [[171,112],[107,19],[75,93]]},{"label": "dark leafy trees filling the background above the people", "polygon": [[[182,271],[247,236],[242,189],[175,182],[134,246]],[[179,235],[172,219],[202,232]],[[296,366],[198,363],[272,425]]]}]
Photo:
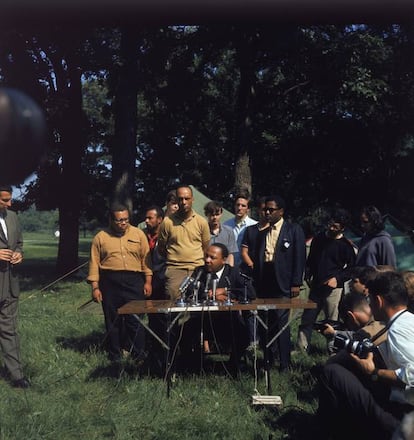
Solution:
[{"label": "dark leafy trees filling the background above the people", "polygon": [[413,30],[153,26],[129,40],[122,87],[131,29],[4,32],[0,80],[51,127],[27,203],[104,221],[113,174],[128,170],[137,220],[188,182],[228,208],[246,184],[284,195],[295,217],[373,203],[413,224]]}]

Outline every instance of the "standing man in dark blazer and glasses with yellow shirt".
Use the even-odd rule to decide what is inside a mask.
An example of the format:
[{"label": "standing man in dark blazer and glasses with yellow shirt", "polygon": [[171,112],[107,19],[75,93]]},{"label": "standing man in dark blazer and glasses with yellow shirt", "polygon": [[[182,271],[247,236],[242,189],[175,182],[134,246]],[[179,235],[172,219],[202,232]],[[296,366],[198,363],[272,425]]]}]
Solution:
[{"label": "standing man in dark blazer and glasses with yellow shirt", "polygon": [[[269,228],[259,232],[253,278],[259,298],[294,298],[299,295],[305,270],[305,234],[302,228],[284,220],[285,201],[278,195],[266,197],[263,208]],[[271,340],[289,320],[289,309],[271,310],[268,338]],[[266,337],[261,337],[265,343]],[[279,370],[290,366],[290,328],[286,329],[270,347],[270,363],[279,350]]]}]

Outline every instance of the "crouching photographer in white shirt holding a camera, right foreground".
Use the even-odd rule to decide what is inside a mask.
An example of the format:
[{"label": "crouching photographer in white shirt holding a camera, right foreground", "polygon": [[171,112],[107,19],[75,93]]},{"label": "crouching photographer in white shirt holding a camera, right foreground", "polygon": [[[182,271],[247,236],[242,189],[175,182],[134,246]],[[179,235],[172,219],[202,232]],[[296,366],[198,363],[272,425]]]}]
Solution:
[{"label": "crouching photographer in white shirt holding a camera, right foreground", "polygon": [[329,438],[390,439],[414,409],[414,315],[407,310],[404,281],[386,272],[368,288],[375,319],[387,323],[387,340],[378,346],[384,364],[374,361],[372,351],[358,357],[348,349],[323,366],[318,416]]}]

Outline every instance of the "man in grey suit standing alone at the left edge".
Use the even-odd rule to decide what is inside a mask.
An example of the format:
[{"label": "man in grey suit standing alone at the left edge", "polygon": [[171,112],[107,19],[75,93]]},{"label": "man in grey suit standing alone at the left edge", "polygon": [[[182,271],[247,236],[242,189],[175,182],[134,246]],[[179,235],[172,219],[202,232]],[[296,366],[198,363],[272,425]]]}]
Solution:
[{"label": "man in grey suit standing alone at the left edge", "polygon": [[23,260],[23,238],[13,211],[9,211],[12,188],[0,185],[0,347],[4,366],[16,388],[28,388],[23,375],[17,335],[19,280],[15,270]]}]

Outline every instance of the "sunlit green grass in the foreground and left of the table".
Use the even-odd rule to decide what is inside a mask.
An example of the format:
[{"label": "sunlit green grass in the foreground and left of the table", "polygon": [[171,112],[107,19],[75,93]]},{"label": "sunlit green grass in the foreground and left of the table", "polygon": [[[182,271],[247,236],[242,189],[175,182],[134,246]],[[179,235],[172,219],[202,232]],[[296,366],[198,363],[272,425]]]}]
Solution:
[{"label": "sunlit green grass in the foreground and left of the table", "polygon": [[[220,365],[216,373],[178,376],[169,396],[162,378],[132,369],[128,360],[121,379],[111,378],[100,308],[78,310],[90,298],[84,279],[43,290],[53,281],[56,249],[26,243],[19,331],[32,387],[16,390],[0,380],[0,440],[310,438],[317,398],[309,370],[325,358],[321,337],[315,335],[314,355],[293,356],[292,372],[272,370],[280,408],[254,407],[254,375],[234,379]],[[266,394],[263,377],[257,389]]]}]

